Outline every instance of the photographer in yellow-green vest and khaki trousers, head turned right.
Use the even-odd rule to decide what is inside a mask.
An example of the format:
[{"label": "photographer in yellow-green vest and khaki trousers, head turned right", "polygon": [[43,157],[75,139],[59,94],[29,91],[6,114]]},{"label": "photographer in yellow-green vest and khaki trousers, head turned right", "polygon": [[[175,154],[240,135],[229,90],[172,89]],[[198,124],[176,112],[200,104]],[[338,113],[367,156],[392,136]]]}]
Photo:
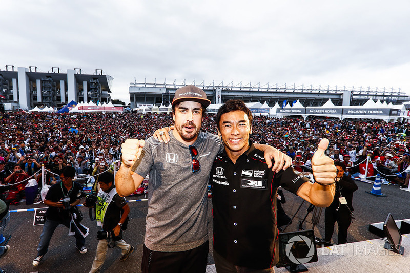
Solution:
[{"label": "photographer in yellow-green vest and khaki trousers, head turned right", "polygon": [[[90,195],[87,197],[84,206],[96,206],[97,226],[102,230],[97,232],[97,254],[90,273],[98,272],[103,266],[107,255],[107,249],[110,245],[121,249],[120,261],[127,260],[128,256],[134,251],[134,247],[122,240],[122,230],[125,230],[128,224],[128,214],[130,207],[124,197],[117,194],[114,184],[114,175],[109,172],[99,175],[98,184],[100,190],[97,194],[97,200]],[[91,200],[89,200],[91,199]]]}]

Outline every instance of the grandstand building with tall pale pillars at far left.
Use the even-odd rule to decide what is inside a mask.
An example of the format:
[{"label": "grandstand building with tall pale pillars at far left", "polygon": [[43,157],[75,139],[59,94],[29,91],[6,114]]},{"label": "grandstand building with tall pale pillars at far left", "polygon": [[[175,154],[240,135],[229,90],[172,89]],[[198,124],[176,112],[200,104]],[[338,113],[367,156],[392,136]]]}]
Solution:
[{"label": "grandstand building with tall pale pillars at far left", "polygon": [[101,69],[86,74],[80,68],[68,69],[65,73],[58,67],[44,72],[34,66],[6,65],[0,70],[0,98],[4,110],[29,110],[36,106],[61,108],[72,100],[98,104],[111,100],[112,79]]}]

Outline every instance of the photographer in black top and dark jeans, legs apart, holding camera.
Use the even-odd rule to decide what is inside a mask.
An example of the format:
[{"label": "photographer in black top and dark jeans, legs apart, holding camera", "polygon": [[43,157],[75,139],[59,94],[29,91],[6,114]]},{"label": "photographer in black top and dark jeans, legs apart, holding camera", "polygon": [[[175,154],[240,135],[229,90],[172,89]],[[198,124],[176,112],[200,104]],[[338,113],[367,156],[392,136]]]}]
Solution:
[{"label": "photographer in black top and dark jeans, legs apart, holding camera", "polygon": [[[76,223],[73,220],[75,206],[80,203],[83,193],[83,186],[73,181],[75,177],[75,169],[67,166],[61,170],[60,180],[50,187],[47,192],[44,203],[48,205],[46,211],[46,221],[44,222],[43,232],[40,235],[40,242],[37,247],[37,257],[33,261],[33,266],[39,265],[44,255],[48,251],[51,237],[58,225],[62,224],[74,233],[76,240],[76,248],[79,253],[87,253],[87,248],[84,246],[88,228]],[[70,234],[69,234],[70,235]]]}]

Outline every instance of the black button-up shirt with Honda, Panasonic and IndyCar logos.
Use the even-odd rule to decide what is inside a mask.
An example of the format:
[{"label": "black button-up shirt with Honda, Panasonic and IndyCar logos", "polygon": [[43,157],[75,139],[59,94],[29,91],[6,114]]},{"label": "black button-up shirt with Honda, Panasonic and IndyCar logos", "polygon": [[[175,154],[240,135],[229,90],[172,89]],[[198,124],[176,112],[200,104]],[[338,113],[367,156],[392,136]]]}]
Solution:
[{"label": "black button-up shirt with Honda, Panasonic and IndyCar logos", "polygon": [[277,188],[296,194],[310,180],[293,167],[272,172],[264,153],[249,143],[236,164],[223,151],[212,166],[213,247],[234,265],[265,269],[279,261]]}]

